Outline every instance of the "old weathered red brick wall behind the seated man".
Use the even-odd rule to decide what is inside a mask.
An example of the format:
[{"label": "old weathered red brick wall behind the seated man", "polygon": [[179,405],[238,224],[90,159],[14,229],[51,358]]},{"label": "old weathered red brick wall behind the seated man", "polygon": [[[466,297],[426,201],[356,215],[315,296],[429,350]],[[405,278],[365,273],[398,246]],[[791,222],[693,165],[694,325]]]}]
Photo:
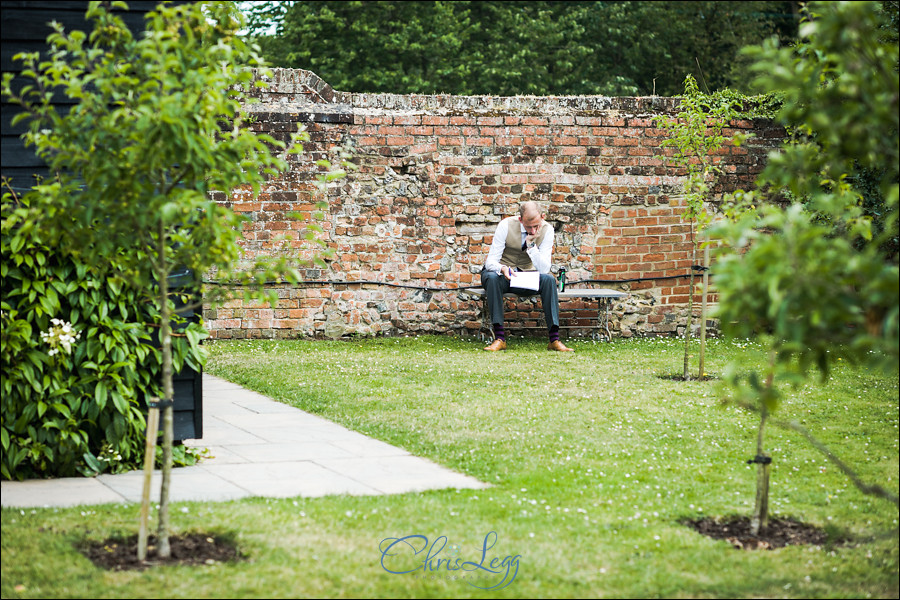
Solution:
[{"label": "old weathered red brick wall behind the seated man", "polygon": [[[455,290],[479,285],[494,228],[524,200],[544,206],[556,230],[553,262],[570,285],[629,292],[613,307],[615,334],[683,324],[692,248],[680,216],[684,173],[667,164],[671,150],[652,121],[677,100],[351,94],[289,69],[273,71],[269,84],[247,92],[260,100],[247,105],[252,127],[281,139],[305,127],[305,152],[257,199],[245,190],[218,199],[251,217],[252,254],[279,234],[303,248],[304,225],[286,214],[311,215],[327,198],[320,235],[334,254],[326,269],[306,268],[311,283],[278,287],[277,306],[208,309],[213,337],[477,332],[479,301]],[[738,131],[755,137],[716,156],[725,171],[717,198],[751,187],[783,138],[767,121],[734,122],[726,133]],[[354,169],[318,190],[315,161],[341,150]],[[595,308],[564,303],[564,325],[584,324]],[[510,323],[540,325],[536,302],[510,311]]]}]

